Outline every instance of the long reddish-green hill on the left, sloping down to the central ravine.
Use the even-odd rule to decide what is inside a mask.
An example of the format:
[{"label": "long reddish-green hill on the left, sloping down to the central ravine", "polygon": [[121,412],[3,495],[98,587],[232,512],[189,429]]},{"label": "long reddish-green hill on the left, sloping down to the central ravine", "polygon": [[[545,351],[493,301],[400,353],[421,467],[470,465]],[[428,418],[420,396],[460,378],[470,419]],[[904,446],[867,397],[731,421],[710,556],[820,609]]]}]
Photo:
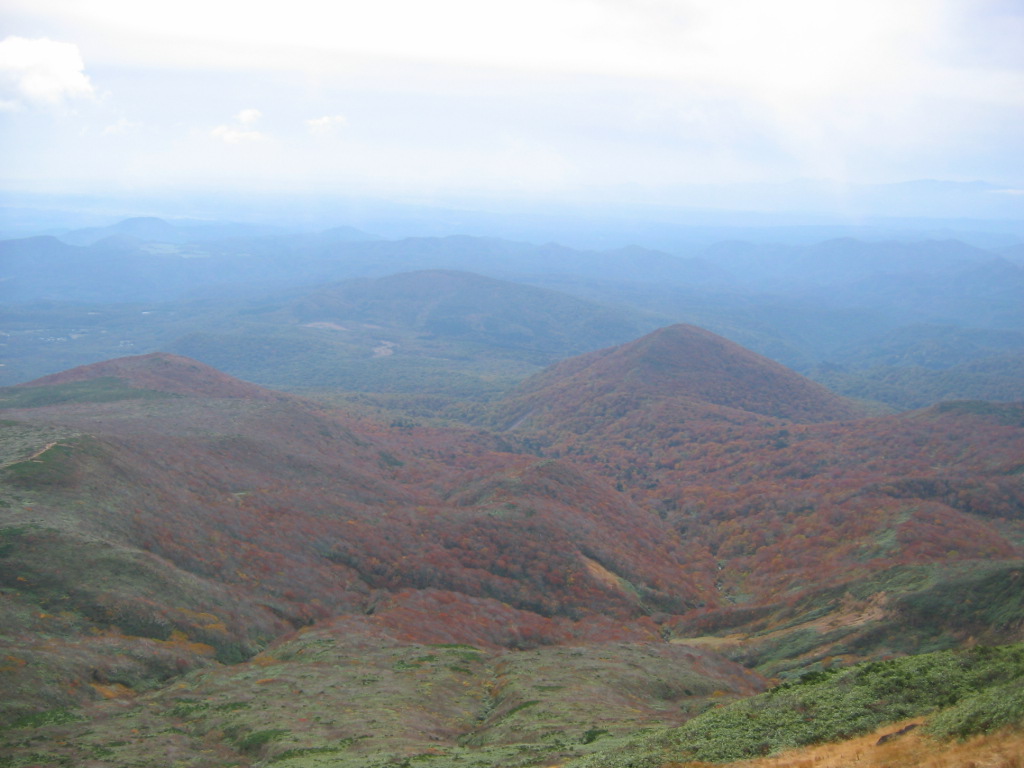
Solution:
[{"label": "long reddish-green hill on the left, sloping down to the central ravine", "polygon": [[[360,424],[167,355],[3,395],[6,626],[50,627],[61,654],[93,658],[95,630],[131,647],[179,638],[182,669],[204,659],[188,643],[238,660],[317,617],[382,615],[402,590],[502,600],[537,638],[513,640],[514,622],[484,635],[527,645],[598,616],[647,638],[631,623],[698,599],[655,515],[475,432]],[[33,701],[78,698],[37,684]]]}]

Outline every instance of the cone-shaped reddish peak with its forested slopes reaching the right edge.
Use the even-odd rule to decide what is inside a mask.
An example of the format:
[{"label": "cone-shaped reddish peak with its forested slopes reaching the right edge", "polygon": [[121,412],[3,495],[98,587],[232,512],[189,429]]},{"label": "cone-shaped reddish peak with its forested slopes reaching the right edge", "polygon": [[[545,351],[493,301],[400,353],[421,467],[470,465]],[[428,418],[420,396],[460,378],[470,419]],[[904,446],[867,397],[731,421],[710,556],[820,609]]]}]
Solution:
[{"label": "cone-shaped reddish peak with its forested slopes reaching the right edge", "polygon": [[[942,552],[1015,557],[1020,404],[856,410],[730,342],[672,327],[551,367],[499,403],[495,423],[657,510],[697,570],[719,572],[709,604],[784,602]],[[985,480],[968,468],[981,454]],[[907,496],[896,490],[908,483]]]}]

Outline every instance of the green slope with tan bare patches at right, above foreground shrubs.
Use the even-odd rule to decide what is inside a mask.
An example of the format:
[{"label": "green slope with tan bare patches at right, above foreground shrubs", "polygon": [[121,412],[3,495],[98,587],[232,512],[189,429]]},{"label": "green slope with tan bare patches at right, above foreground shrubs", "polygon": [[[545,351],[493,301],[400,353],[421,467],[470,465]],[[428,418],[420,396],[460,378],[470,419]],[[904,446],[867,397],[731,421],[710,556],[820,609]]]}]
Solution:
[{"label": "green slope with tan bare patches at right, above foreground shrubs", "polygon": [[713,647],[770,677],[835,664],[1021,637],[1024,562],[897,566],[751,610],[674,623],[676,642]]}]

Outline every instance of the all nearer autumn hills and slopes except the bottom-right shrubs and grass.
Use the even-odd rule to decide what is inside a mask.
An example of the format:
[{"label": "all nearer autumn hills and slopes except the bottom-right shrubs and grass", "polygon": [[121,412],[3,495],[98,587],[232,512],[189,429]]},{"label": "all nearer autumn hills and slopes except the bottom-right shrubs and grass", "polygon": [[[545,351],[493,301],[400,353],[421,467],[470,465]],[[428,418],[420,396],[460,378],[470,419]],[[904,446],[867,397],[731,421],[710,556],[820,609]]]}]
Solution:
[{"label": "all nearer autumn hills and slopes except the bottom-right shrubs and grass", "polygon": [[13,766],[599,761],[767,678],[1024,639],[1020,404],[861,418],[699,329],[495,430],[170,354],[0,408]]}]

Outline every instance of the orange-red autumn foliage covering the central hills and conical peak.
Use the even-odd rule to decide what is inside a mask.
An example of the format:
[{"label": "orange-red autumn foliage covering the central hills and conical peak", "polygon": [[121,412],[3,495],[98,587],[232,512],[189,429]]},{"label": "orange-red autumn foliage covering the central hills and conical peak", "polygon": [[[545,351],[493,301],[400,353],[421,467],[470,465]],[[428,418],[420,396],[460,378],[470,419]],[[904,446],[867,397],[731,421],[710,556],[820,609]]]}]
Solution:
[{"label": "orange-red autumn foliage covering the central hills and conical peak", "polygon": [[[101,445],[76,498],[95,500],[105,537],[147,550],[141,565],[176,566],[223,599],[103,596],[95,621],[180,632],[167,642],[205,654],[256,624],[278,635],[424,591],[426,634],[447,631],[436,596],[460,593],[522,612],[508,641],[532,643],[592,616],[632,633],[640,616],[763,605],[896,564],[1022,554],[1021,407],[800,423],[775,406],[788,396],[783,415],[807,420],[847,406],[792,390],[784,371],[759,379],[761,362],[700,333],[644,344],[665,348],[552,369],[522,395],[536,413],[500,435],[250,396],[179,359],[122,364],[219,399],[175,398],[173,418],[75,407]],[[711,383],[686,360],[717,372]]]}]

